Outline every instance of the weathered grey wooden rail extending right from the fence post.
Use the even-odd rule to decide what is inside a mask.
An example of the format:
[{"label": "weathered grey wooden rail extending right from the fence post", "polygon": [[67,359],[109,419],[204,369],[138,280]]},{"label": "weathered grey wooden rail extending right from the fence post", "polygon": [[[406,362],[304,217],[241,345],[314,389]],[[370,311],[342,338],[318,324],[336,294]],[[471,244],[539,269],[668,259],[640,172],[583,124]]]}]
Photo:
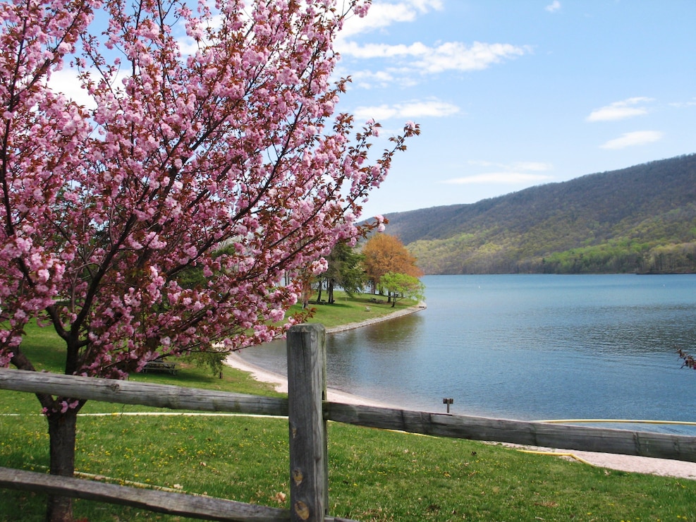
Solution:
[{"label": "weathered grey wooden rail extending right from the fence post", "polygon": [[324,402],[324,418],[436,437],[696,462],[696,437]]}]

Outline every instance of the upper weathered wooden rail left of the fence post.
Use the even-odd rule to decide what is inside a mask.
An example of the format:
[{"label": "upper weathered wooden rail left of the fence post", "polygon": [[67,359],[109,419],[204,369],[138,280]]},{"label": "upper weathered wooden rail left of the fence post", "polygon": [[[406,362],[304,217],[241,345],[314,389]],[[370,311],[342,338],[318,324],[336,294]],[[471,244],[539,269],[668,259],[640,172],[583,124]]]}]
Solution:
[{"label": "upper weathered wooden rail left of the fence post", "polygon": [[0,389],[173,410],[288,415],[287,399],[7,368],[0,368]]}]

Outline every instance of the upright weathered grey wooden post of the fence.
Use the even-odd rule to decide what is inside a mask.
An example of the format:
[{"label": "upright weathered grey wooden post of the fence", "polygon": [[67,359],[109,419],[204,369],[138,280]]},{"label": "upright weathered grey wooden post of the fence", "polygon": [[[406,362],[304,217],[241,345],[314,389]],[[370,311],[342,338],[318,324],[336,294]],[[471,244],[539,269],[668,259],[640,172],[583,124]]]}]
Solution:
[{"label": "upright weathered grey wooden post of the fence", "polygon": [[329,505],[326,420],[326,330],[288,330],[288,424],[292,521],[323,521]]}]

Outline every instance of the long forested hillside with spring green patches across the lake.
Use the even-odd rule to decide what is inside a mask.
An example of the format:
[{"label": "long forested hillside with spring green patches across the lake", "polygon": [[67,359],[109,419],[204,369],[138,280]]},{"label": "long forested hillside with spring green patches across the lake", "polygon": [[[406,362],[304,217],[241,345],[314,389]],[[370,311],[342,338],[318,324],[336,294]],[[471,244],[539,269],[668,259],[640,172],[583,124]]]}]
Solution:
[{"label": "long forested hillside with spring green patches across the lake", "polygon": [[696,154],[386,217],[426,274],[696,272]]}]

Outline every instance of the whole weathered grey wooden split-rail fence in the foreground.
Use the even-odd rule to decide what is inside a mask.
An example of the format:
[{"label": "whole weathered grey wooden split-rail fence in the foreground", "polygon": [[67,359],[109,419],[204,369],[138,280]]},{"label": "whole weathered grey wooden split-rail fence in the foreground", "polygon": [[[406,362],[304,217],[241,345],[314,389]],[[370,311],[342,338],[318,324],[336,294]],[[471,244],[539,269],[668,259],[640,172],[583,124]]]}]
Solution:
[{"label": "whole weathered grey wooden split-rail fence in the foreground", "polygon": [[0,389],[161,408],[288,416],[291,509],[141,490],[78,478],[0,468],[0,487],[126,504],[223,521],[341,521],[327,516],[326,421],[411,433],[696,462],[696,437],[530,423],[326,401],[326,332],[299,324],[288,332],[288,399],[163,384],[0,369]]}]

